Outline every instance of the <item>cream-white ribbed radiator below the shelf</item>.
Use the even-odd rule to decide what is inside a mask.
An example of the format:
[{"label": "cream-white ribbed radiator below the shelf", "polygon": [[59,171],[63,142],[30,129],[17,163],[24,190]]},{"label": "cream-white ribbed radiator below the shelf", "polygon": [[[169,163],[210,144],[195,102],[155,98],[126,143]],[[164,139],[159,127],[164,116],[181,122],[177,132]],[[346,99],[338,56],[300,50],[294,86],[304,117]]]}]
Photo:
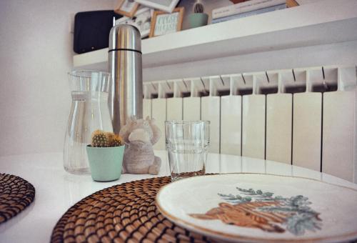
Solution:
[{"label": "cream-white ribbed radiator below the shelf", "polygon": [[211,121],[210,152],[357,182],[356,66],[317,66],[144,83],[144,116]]}]

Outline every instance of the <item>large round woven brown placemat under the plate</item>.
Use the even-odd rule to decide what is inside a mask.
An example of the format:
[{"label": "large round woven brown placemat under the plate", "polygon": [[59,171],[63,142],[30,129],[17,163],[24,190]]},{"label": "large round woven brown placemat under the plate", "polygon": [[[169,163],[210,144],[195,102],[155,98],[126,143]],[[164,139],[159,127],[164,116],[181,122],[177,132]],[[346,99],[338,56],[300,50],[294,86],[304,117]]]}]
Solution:
[{"label": "large round woven brown placemat under the plate", "polygon": [[169,182],[170,177],[156,177],[91,194],[59,219],[51,242],[210,242],[156,209],[156,193]]}]

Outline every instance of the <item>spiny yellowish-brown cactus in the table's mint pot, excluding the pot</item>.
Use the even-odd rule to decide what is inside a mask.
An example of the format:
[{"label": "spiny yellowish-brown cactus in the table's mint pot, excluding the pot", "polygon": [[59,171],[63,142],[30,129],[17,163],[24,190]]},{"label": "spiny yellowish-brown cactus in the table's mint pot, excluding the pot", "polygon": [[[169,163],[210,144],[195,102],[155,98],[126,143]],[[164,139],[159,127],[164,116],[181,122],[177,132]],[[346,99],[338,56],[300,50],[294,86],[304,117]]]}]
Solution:
[{"label": "spiny yellowish-brown cactus in the table's mint pot, excluding the pot", "polygon": [[96,130],[91,134],[91,147],[119,147],[123,145],[123,139],[113,132]]}]

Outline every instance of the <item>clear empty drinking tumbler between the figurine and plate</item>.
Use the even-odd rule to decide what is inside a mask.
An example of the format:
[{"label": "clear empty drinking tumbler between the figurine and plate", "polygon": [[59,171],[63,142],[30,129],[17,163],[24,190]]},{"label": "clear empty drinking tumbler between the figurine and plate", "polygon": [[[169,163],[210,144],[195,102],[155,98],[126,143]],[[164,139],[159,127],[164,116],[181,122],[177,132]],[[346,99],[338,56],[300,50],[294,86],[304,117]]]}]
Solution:
[{"label": "clear empty drinking tumbler between the figurine and plate", "polygon": [[208,121],[165,122],[171,181],[205,174],[209,125]]}]

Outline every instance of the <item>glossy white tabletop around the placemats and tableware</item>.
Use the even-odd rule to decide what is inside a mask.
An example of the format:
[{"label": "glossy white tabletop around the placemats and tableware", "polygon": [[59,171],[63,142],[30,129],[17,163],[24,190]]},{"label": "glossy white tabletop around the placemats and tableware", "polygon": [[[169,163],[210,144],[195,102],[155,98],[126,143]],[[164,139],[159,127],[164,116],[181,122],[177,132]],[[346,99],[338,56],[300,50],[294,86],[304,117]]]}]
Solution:
[{"label": "glossy white tabletop around the placemats and tableware", "polygon": [[[158,176],[169,175],[166,152],[156,151],[163,159]],[[357,189],[357,184],[328,174],[291,166],[226,154],[209,154],[207,173],[253,172],[308,177]],[[52,229],[69,207],[84,197],[115,184],[154,177],[148,174],[122,174],[115,182],[94,182],[91,176],[64,171],[62,154],[24,154],[0,157],[0,173],[14,174],[34,185],[34,202],[23,212],[0,224],[0,242],[49,242]]]}]

